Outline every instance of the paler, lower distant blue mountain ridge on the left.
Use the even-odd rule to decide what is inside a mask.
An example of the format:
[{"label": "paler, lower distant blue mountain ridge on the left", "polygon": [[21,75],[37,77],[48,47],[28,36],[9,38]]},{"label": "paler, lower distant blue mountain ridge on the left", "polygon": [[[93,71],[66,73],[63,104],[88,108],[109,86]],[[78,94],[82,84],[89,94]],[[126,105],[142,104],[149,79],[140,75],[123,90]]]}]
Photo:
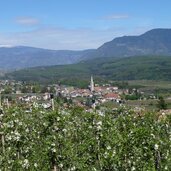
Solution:
[{"label": "paler, lower distant blue mountain ridge on the left", "polygon": [[48,50],[26,46],[0,47],[0,69],[21,69],[79,62],[93,50]]}]

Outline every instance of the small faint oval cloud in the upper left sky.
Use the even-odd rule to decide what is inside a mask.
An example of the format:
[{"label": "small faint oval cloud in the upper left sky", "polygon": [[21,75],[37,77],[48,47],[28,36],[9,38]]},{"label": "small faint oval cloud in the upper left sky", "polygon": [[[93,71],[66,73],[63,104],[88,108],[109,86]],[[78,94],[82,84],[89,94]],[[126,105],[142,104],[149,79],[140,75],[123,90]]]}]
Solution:
[{"label": "small faint oval cloud in the upper left sky", "polygon": [[33,26],[39,24],[39,20],[33,17],[18,17],[15,21],[17,24],[24,26]]}]

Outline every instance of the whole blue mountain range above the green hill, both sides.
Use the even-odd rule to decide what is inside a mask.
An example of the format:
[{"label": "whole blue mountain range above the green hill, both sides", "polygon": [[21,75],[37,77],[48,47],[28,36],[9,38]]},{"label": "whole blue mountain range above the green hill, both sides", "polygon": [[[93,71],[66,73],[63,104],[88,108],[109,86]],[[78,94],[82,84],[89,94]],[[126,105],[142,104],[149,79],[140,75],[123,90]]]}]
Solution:
[{"label": "whole blue mountain range above the green hill, both sides", "polygon": [[98,49],[47,50],[32,47],[0,47],[0,69],[73,64],[92,58],[171,55],[171,29],[153,29],[140,36],[123,36]]}]

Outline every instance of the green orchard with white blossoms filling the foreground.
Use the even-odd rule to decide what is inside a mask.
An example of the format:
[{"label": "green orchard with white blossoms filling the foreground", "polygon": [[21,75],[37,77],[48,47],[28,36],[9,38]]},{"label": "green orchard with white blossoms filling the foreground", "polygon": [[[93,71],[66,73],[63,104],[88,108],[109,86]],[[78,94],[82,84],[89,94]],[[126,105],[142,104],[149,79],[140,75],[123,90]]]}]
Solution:
[{"label": "green orchard with white blossoms filling the foreground", "polygon": [[79,107],[0,114],[1,171],[171,170],[171,116]]}]

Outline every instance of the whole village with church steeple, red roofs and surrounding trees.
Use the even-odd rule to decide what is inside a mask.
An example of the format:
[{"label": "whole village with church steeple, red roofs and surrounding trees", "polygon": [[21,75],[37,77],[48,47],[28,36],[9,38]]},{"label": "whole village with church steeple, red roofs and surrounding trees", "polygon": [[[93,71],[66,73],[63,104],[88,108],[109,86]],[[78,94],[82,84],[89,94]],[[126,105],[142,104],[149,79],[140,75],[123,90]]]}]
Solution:
[{"label": "whole village with church steeple, red roofs and surrounding trees", "polygon": [[[61,84],[40,86],[36,83],[1,80],[0,93],[0,104],[3,106],[10,107],[17,104],[28,107],[39,106],[44,109],[51,109],[54,102],[60,101],[66,108],[74,104],[85,109],[95,109],[106,104],[106,107],[110,104],[112,108],[116,108],[131,100],[147,100],[147,96],[141,90],[133,88],[130,91],[128,88],[119,88],[109,83],[99,85],[94,82],[93,76],[84,89]],[[156,99],[156,96],[151,94],[148,98]],[[136,108],[142,109],[142,105],[136,105]]]}]

